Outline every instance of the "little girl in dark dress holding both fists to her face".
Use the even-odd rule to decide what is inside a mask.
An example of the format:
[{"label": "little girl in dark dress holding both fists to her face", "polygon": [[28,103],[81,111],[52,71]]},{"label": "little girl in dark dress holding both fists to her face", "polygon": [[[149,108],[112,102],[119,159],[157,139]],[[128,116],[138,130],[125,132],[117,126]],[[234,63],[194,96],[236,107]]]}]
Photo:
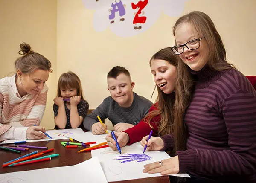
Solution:
[{"label": "little girl in dark dress holding both fists to her face", "polygon": [[71,71],[61,74],[53,105],[55,129],[81,127],[88,109],[79,77]]}]

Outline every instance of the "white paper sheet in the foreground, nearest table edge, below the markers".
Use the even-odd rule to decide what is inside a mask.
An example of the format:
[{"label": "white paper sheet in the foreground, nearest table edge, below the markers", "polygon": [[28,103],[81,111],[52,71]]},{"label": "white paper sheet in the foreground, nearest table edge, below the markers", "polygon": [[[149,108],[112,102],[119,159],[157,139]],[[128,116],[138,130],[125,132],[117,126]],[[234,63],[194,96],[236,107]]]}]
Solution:
[{"label": "white paper sheet in the foreground, nearest table edge, below the markers", "polygon": [[[26,165],[25,165],[26,166]],[[11,167],[10,167],[11,168]],[[0,183],[108,183],[99,159],[93,157],[73,166],[0,174]]]}]

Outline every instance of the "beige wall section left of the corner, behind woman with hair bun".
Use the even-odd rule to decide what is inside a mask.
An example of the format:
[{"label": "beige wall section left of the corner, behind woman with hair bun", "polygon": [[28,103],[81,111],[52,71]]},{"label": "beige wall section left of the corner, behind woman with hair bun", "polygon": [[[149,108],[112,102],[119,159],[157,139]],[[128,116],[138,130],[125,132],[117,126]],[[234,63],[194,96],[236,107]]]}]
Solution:
[{"label": "beige wall section left of the corner, behind woman with hair bun", "polygon": [[0,78],[14,71],[14,61],[20,56],[19,45],[26,42],[52,63],[53,73],[47,81],[49,92],[42,126],[53,128],[52,105],[56,90],[56,0],[0,0]]}]

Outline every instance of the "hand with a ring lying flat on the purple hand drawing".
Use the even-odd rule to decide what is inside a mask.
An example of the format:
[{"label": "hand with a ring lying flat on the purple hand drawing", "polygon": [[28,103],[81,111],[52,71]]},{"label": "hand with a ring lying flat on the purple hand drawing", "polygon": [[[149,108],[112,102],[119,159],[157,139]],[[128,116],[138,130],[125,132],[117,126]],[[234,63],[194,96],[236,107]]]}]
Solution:
[{"label": "hand with a ring lying flat on the purple hand drawing", "polygon": [[161,173],[161,175],[168,175],[168,174],[177,174],[179,173],[179,158],[178,156],[171,157],[166,160],[162,160],[159,162],[150,163],[144,165],[143,172],[148,172],[149,174],[154,173]]}]

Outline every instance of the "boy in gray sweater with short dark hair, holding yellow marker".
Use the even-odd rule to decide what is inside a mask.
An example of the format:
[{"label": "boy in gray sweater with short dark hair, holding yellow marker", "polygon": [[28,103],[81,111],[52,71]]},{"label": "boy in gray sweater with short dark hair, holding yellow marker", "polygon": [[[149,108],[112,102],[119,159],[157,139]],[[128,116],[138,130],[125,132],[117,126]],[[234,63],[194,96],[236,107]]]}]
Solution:
[{"label": "boy in gray sweater with short dark hair, holding yellow marker", "polygon": [[105,127],[99,122],[97,115],[102,120],[108,118],[116,132],[124,131],[133,127],[148,113],[152,103],[150,100],[139,96],[132,90],[135,83],[131,81],[128,70],[116,66],[108,72],[108,90],[111,96],[103,102],[92,113],[84,118],[84,128],[93,134],[104,134]]}]

